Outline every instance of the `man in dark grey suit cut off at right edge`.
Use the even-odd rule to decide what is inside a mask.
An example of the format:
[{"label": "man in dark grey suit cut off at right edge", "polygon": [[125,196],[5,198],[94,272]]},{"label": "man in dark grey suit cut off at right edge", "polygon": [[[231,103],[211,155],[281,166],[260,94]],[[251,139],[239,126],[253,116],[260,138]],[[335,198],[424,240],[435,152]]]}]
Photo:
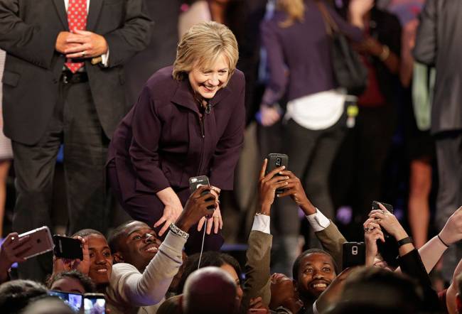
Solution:
[{"label": "man in dark grey suit cut off at right edge", "polygon": [[[439,192],[436,224],[441,229],[462,205],[462,1],[427,0],[421,12],[414,58],[436,67],[431,133],[436,139]],[[443,239],[444,240],[444,239]],[[462,243],[444,256],[443,275],[451,281],[462,258]]]}]

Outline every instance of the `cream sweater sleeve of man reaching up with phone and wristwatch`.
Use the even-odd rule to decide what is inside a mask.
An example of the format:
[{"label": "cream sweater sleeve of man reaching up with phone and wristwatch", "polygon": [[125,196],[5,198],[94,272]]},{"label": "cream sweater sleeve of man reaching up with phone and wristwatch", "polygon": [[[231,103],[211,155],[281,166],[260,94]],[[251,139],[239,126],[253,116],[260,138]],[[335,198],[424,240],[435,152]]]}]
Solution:
[{"label": "cream sweater sleeve of man reaching up with phone and wristwatch", "polygon": [[154,305],[162,301],[183,263],[182,251],[185,244],[186,239],[168,232],[143,274],[130,264],[115,264],[114,276],[111,276],[115,297],[122,298],[125,303],[136,307]]}]

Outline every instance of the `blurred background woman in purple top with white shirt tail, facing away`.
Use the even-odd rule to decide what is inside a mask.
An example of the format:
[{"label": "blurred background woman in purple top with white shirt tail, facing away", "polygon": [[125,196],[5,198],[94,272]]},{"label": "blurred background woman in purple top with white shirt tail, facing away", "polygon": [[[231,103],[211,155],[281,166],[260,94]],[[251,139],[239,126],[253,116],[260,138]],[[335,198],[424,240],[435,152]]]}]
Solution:
[{"label": "blurred background woman in purple top with white shirt tail, facing away", "polygon": [[[301,178],[313,204],[329,218],[333,218],[333,204],[328,193],[328,176],[345,133],[345,95],[337,90],[331,38],[320,6],[326,8],[340,31],[358,42],[362,40],[362,16],[368,11],[364,3],[372,6],[373,0],[350,2],[352,25],[325,1],[277,0],[274,15],[261,25],[269,70],[260,106],[262,126],[279,121],[279,103],[287,101],[282,133],[289,169]],[[280,217],[274,226],[279,234],[275,247],[281,247],[281,251],[275,254],[278,261],[274,271],[290,275],[297,256],[300,221],[293,203],[284,198],[275,205]]]}]

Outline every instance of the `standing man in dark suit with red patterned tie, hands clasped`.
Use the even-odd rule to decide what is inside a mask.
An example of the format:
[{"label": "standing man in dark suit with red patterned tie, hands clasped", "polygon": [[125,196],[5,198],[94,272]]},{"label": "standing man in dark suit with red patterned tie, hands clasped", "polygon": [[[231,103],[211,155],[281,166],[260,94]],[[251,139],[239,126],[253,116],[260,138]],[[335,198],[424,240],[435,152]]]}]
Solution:
[{"label": "standing man in dark suit with red patterned tie, hands clasped", "polygon": [[[107,145],[128,111],[124,63],[150,36],[143,0],[0,0],[15,231],[50,226],[55,159],[64,144],[68,232],[105,232]],[[43,279],[49,256],[40,261],[41,269],[35,259],[21,264],[20,276]]]}]

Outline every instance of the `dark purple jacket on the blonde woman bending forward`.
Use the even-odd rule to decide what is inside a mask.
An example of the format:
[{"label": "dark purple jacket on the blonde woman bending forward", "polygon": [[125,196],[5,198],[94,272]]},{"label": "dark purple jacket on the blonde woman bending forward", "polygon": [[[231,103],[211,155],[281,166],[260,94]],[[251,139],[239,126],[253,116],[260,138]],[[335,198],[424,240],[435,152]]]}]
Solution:
[{"label": "dark purple jacket on the blonde woman bending forward", "polygon": [[205,114],[189,81],[174,80],[172,69],[164,67],[146,82],[112,137],[109,161],[115,159],[124,200],[136,191],[157,193],[169,186],[182,190],[197,175],[208,175],[218,188],[232,189],[244,138],[244,75],[236,70]]}]

